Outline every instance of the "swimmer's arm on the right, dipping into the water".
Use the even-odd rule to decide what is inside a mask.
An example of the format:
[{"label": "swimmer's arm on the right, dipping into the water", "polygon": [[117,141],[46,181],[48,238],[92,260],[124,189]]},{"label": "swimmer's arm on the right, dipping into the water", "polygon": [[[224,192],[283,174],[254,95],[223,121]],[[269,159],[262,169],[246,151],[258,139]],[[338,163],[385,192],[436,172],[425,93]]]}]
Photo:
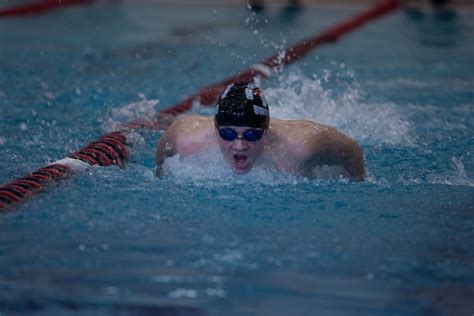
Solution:
[{"label": "swimmer's arm on the right, dipping into the water", "polygon": [[309,164],[343,166],[351,180],[365,178],[364,154],[360,145],[350,137],[328,127],[313,142]]}]

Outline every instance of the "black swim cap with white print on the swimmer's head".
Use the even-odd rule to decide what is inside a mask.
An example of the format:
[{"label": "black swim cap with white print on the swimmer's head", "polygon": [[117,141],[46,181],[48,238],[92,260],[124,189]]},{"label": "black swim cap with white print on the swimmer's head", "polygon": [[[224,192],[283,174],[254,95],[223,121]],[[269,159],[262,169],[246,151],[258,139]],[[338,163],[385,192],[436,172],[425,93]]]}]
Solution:
[{"label": "black swim cap with white print on the swimmer's head", "polygon": [[260,88],[247,82],[228,85],[219,98],[217,126],[268,128],[270,110]]}]

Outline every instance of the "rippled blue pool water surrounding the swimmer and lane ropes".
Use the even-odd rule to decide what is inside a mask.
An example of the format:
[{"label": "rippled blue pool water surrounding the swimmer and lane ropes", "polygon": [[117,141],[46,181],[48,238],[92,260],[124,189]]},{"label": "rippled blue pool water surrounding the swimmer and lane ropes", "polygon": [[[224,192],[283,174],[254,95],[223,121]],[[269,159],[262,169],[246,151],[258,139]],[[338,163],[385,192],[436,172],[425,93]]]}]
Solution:
[{"label": "rippled blue pool water surrounding the swimmer and lane ropes", "polygon": [[[0,183],[360,8],[99,3],[0,20]],[[367,180],[169,159],[129,135],[0,217],[2,315],[471,315],[472,11],[400,11],[262,81],[272,115],[360,142]],[[210,115],[198,105],[192,112]]]}]

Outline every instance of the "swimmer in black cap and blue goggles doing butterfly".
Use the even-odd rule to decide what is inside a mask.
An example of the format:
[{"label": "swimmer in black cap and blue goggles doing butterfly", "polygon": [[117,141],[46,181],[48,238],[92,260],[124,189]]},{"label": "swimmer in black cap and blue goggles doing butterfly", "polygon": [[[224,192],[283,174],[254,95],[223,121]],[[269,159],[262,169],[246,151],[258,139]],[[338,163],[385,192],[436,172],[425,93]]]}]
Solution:
[{"label": "swimmer in black cap and blue goggles doing butterfly", "polygon": [[266,165],[312,177],[315,167],[336,165],[352,180],[362,181],[365,176],[364,156],[357,142],[333,127],[311,121],[270,120],[261,90],[249,83],[227,86],[214,117],[187,116],[174,122],[158,142],[157,175],[162,174],[166,157],[216,148],[238,174]]}]

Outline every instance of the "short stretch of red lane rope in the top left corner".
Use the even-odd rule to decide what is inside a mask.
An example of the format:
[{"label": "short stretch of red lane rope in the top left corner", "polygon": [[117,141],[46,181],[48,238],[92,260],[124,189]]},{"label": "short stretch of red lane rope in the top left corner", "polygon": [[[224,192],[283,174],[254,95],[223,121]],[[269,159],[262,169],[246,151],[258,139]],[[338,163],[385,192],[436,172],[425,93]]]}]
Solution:
[{"label": "short stretch of red lane rope in the top left corner", "polygon": [[71,5],[90,4],[93,0],[42,0],[26,5],[19,5],[12,8],[0,9],[0,17],[13,17],[43,12],[66,7]]}]

